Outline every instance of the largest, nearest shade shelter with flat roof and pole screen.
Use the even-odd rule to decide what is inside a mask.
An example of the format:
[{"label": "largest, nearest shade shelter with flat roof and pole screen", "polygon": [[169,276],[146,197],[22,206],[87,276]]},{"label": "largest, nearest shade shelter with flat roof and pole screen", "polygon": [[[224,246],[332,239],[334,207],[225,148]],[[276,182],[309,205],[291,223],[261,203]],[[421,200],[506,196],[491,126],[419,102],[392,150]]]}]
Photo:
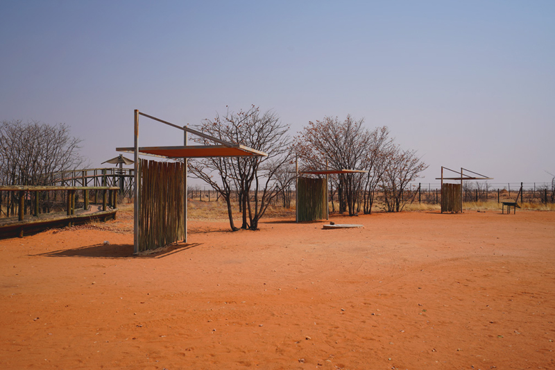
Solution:
[{"label": "largest, nearest shade shelter with flat roof and pole screen", "polygon": [[[182,146],[139,147],[139,116],[178,128],[183,132]],[[226,142],[187,126],[135,110],[133,147],[116,148],[133,153],[135,160],[135,210],[133,214],[133,253],[152,250],[183,239],[187,242],[187,158],[266,156],[247,146]],[[189,145],[187,134],[215,142],[215,145]],[[182,159],[167,163],[139,160],[139,154],[158,158]]]}]

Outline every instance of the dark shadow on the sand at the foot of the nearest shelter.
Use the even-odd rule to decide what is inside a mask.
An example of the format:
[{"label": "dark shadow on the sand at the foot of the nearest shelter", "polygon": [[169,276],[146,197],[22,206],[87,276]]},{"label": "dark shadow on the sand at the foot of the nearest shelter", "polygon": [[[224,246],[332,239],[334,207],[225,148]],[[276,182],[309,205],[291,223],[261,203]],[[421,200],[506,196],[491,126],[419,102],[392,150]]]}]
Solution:
[{"label": "dark shadow on the sand at the foot of the nearest shelter", "polygon": [[133,255],[133,244],[92,244],[89,246],[80,246],[74,249],[60,249],[59,251],[51,251],[46,253],[38,253],[35,256],[42,257],[80,257],[80,258],[163,258],[173,253],[186,251],[187,249],[199,246],[200,243],[189,244],[171,244],[152,251],[151,253],[143,253]]}]

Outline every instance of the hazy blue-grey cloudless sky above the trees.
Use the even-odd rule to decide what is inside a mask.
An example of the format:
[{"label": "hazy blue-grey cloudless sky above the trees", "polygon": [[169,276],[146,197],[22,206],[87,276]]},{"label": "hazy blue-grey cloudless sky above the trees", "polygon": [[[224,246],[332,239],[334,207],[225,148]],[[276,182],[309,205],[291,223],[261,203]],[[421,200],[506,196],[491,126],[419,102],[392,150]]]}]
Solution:
[{"label": "hazy blue-grey cloudless sky above the trees", "polygon": [[[554,1],[0,1],[0,120],[63,122],[91,165],[174,124],[350,114],[490,183],[555,174]],[[182,134],[142,118],[139,145]]]}]

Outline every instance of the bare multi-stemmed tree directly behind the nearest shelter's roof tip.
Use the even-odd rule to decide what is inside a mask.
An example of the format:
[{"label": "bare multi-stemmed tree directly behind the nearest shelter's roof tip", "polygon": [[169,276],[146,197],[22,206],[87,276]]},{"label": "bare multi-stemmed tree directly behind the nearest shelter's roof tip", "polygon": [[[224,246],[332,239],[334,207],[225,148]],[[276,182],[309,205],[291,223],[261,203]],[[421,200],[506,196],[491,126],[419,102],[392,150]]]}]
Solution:
[{"label": "bare multi-stemmed tree directly behind the nearest shelter's roof tip", "polygon": [[[289,181],[277,180],[280,168],[291,160],[289,126],[282,124],[275,112],[261,113],[259,108],[251,106],[246,111],[228,110],[223,117],[216,115],[213,120],[205,119],[196,128],[214,137],[268,153],[267,157],[205,158],[191,161],[189,165],[192,174],[205,180],[226,199],[232,230],[237,230],[230,203],[233,188],[239,194],[243,213],[241,228],[257,230],[268,205],[293,179],[291,174]],[[204,139],[195,140],[207,143]],[[218,174],[218,180],[212,178],[213,174]]]}]

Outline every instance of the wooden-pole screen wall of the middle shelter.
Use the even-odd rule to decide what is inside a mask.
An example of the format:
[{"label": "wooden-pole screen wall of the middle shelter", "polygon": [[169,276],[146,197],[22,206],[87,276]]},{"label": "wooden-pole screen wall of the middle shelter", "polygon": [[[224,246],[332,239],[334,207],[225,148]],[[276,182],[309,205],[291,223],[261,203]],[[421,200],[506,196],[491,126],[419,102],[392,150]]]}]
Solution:
[{"label": "wooden-pole screen wall of the middle shelter", "polygon": [[297,182],[298,221],[325,219],[327,183],[325,178],[300,177]]}]

